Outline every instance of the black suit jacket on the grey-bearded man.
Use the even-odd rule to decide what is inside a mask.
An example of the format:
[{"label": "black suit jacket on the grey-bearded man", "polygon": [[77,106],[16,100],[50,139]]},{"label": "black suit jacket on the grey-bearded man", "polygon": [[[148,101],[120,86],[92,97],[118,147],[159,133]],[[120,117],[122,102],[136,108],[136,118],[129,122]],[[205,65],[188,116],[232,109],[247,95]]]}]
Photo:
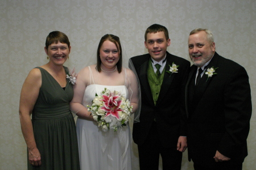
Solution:
[{"label": "black suit jacket on the grey-bearded man", "polygon": [[217,68],[207,80],[204,74],[195,95],[189,99],[197,66],[191,66],[185,88],[188,117],[188,154],[193,162],[211,164],[218,150],[234,162],[247,156],[246,138],[250,128],[251,94],[246,70],[217,53],[207,67]]}]

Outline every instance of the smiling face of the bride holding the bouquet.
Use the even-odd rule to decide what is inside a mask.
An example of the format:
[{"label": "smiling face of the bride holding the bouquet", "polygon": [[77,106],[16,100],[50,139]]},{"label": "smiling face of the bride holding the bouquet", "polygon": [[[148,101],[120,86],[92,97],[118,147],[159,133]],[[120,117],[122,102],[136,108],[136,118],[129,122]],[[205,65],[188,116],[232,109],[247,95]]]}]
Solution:
[{"label": "smiling face of the bride holding the bouquet", "polygon": [[102,69],[112,69],[119,61],[119,50],[117,46],[106,40],[103,42],[100,48],[100,58]]}]

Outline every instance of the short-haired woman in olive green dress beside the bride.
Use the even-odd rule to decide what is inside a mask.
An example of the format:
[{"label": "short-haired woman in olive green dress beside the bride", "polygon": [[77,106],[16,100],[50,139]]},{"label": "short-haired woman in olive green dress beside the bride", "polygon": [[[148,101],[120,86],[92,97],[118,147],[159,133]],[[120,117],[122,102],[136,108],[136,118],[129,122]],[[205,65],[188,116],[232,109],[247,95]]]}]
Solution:
[{"label": "short-haired woman in olive green dress beside the bride", "polygon": [[44,50],[49,62],[30,71],[20,94],[28,169],[80,169],[76,126],[69,109],[76,79],[63,66],[71,51],[67,35],[49,33]]}]

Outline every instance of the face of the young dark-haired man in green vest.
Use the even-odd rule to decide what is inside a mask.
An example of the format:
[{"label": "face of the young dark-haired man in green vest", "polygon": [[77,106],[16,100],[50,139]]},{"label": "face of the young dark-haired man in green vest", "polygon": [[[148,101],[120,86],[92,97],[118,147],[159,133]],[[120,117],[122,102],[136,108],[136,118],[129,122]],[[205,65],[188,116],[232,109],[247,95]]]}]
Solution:
[{"label": "face of the young dark-haired man in green vest", "polygon": [[147,40],[144,42],[150,56],[158,62],[166,56],[167,46],[170,44],[171,40],[166,40],[163,31],[147,33]]}]

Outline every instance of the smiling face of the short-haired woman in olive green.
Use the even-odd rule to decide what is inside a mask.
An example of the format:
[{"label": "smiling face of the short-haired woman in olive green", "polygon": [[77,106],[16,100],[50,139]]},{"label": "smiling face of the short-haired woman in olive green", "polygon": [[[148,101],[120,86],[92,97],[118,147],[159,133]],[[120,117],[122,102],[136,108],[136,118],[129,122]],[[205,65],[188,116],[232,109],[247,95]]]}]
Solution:
[{"label": "smiling face of the short-haired woman in olive green", "polygon": [[63,65],[64,62],[68,59],[71,46],[68,47],[67,44],[63,44],[58,41],[57,44],[51,44],[48,46],[48,49],[44,47],[46,54],[49,56],[49,62],[53,62],[56,65]]}]

